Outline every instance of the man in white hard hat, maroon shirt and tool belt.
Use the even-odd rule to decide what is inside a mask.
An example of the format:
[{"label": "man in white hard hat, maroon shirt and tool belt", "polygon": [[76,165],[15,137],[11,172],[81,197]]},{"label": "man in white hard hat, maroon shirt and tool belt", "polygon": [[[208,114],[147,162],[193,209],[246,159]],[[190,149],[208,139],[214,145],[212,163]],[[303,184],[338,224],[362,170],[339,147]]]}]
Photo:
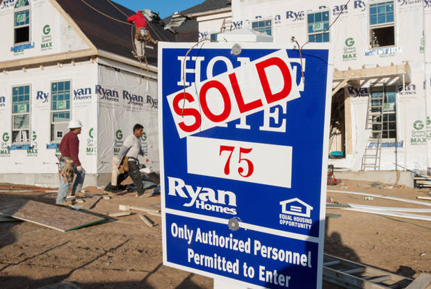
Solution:
[{"label": "man in white hard hat, maroon shirt and tool belt", "polygon": [[70,129],[60,142],[60,187],[58,188],[58,195],[56,204],[59,206],[69,206],[72,201],[66,201],[66,195],[69,191],[74,175],[76,179],[72,187],[72,195],[75,197],[83,197],[84,194],[81,192],[84,178],[86,177],[86,171],[83,169],[81,162],[79,161],[79,139],[78,135],[81,133],[82,124],[78,119],[72,119],[67,126]]}]

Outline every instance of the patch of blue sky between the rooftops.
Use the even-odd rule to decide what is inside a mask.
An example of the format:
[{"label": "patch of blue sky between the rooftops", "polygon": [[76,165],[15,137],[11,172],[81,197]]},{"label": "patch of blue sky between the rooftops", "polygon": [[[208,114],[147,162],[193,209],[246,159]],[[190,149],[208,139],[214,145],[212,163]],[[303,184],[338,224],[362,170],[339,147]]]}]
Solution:
[{"label": "patch of blue sky between the rooftops", "polygon": [[160,13],[161,19],[172,15],[177,11],[186,10],[196,6],[205,0],[159,0],[159,1],[142,1],[142,0],[113,0],[130,10],[149,9],[155,13]]}]

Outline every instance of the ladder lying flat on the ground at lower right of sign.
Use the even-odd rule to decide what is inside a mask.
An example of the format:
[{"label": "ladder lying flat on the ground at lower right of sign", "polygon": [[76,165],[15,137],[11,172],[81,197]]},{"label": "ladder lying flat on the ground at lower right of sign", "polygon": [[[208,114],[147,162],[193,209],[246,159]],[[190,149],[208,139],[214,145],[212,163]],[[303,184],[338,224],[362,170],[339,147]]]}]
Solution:
[{"label": "ladder lying flat on the ground at lower right of sign", "polygon": [[412,279],[323,254],[323,280],[348,289],[402,289]]}]

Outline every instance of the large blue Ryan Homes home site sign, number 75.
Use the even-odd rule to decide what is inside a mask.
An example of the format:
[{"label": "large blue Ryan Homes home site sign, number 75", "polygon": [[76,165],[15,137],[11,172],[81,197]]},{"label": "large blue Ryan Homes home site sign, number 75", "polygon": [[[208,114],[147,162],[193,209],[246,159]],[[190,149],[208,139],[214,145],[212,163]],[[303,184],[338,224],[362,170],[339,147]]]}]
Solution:
[{"label": "large blue Ryan Homes home site sign, number 75", "polygon": [[321,288],[332,49],[190,47],[158,46],[163,264]]}]

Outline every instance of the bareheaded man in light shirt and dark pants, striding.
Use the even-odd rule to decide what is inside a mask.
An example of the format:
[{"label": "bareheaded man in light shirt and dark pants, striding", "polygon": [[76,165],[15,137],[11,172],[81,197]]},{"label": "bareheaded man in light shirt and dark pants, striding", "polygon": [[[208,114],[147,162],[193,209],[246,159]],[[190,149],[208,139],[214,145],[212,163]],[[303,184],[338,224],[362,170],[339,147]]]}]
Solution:
[{"label": "bareheaded man in light shirt and dark pants, striding", "polygon": [[120,183],[127,179],[128,176],[132,179],[133,183],[136,185],[136,192],[138,192],[138,197],[151,197],[151,192],[145,192],[144,193],[144,186],[143,181],[140,178],[140,167],[139,167],[139,161],[138,156],[141,155],[145,158],[145,161],[148,162],[147,156],[145,156],[144,151],[142,147],[140,146],[140,137],[144,133],[144,127],[140,124],[135,124],[133,126],[133,134],[129,135],[126,140],[124,140],[124,144],[120,148],[120,151],[118,152],[117,158],[114,159],[115,165],[120,165],[123,160],[124,154],[127,157],[127,165],[128,165],[128,171],[124,171],[124,174],[120,174],[117,176],[117,186],[112,185],[111,183],[108,183],[105,187],[105,192],[110,195],[111,197],[115,196],[113,190],[115,190],[117,187],[119,187]]}]

